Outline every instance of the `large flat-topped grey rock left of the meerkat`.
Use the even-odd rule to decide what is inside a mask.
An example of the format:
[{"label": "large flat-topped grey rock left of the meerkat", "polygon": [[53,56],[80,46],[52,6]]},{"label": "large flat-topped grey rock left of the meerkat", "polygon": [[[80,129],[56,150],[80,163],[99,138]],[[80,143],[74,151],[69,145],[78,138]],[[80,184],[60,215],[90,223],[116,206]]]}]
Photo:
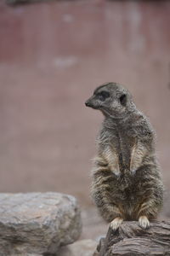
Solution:
[{"label": "large flat-topped grey rock left of the meerkat", "polygon": [[53,255],[77,241],[82,221],[75,197],[0,194],[0,256]]}]

